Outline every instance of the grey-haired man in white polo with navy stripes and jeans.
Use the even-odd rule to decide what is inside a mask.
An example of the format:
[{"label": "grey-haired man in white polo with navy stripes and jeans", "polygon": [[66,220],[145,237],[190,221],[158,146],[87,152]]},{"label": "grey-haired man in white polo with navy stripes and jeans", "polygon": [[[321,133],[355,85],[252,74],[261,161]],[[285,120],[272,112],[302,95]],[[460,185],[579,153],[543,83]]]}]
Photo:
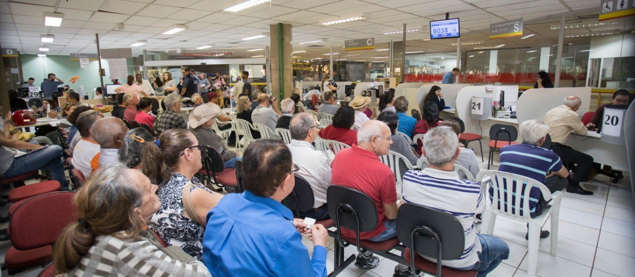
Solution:
[{"label": "grey-haired man in white polo with navy stripes and jeans", "polygon": [[441,264],[448,268],[478,270],[476,276],[486,276],[509,257],[509,246],[500,238],[481,235],[474,230],[476,214],[485,211],[485,194],[479,183],[463,181],[452,171],[460,154],[457,135],[447,126],[433,128],[425,133],[422,150],[429,167],[406,172],[403,177],[404,202],[433,207],[455,216],[465,231],[463,255],[456,260],[441,261]]}]

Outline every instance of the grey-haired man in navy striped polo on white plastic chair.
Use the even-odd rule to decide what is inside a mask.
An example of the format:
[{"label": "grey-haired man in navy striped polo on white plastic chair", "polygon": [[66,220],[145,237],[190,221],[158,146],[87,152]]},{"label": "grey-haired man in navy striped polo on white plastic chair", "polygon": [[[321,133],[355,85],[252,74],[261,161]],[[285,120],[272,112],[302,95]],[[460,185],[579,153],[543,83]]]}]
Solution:
[{"label": "grey-haired man in navy striped polo on white plastic chair", "polygon": [[[563,166],[558,154],[541,148],[547,137],[549,127],[540,120],[527,120],[520,125],[522,144],[509,145],[500,149],[500,168],[505,171],[522,175],[549,188],[549,192],[563,191],[568,184],[566,177],[568,169]],[[491,200],[490,188],[490,200]],[[538,216],[547,202],[537,187],[531,188],[529,211],[531,217]],[[549,231],[542,231],[540,238],[549,237]]]}]

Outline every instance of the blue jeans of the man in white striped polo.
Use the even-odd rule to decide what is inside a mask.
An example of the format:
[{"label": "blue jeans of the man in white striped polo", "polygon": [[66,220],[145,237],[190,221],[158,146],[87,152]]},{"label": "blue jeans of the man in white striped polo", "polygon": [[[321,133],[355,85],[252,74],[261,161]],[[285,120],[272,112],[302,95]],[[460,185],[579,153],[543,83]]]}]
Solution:
[{"label": "blue jeans of the man in white striped polo", "polygon": [[476,277],[485,277],[488,273],[493,271],[500,262],[506,260],[509,257],[509,246],[500,238],[476,234],[481,241],[481,252],[478,254],[479,262],[473,266],[467,266],[465,268],[457,268],[461,270],[478,270]]}]

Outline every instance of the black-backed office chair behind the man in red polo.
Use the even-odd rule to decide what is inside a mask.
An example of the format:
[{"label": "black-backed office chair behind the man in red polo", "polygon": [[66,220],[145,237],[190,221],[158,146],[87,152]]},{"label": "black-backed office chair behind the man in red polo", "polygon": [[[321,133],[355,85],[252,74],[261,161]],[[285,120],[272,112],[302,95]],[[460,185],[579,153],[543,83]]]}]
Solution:
[{"label": "black-backed office chair behind the man in red polo", "polygon": [[[406,264],[403,257],[392,254],[390,251],[398,249],[403,251],[405,247],[399,243],[398,238],[391,238],[385,242],[371,242],[361,240],[360,232],[375,230],[379,223],[377,221],[377,206],[368,195],[354,188],[331,185],[326,190],[326,206],[328,214],[334,219],[337,225],[335,236],[335,267],[330,276],[342,272],[349,264],[355,261],[355,255],[351,255],[344,261],[344,247],[356,245],[358,252],[370,251],[392,261]],[[342,236],[340,230],[347,228],[355,232],[355,238]]]}]

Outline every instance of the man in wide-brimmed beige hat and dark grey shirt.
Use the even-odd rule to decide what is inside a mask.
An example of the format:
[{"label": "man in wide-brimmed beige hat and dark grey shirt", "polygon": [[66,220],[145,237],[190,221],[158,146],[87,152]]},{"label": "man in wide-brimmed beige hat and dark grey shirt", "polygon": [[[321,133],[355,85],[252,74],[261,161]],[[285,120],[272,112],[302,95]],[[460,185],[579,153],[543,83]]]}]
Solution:
[{"label": "man in wide-brimmed beige hat and dark grey shirt", "polygon": [[[215,92],[210,92],[210,94],[213,93]],[[222,114],[218,106],[198,106],[190,113],[188,119],[190,125],[189,130],[194,134],[199,144],[209,145],[220,152],[220,156],[222,156],[223,161],[225,161],[225,168],[234,168],[236,161],[242,161],[243,158],[239,157],[238,152],[229,150],[229,147],[227,147],[223,139],[210,128],[210,126],[214,124],[214,120],[218,114]]]}]

